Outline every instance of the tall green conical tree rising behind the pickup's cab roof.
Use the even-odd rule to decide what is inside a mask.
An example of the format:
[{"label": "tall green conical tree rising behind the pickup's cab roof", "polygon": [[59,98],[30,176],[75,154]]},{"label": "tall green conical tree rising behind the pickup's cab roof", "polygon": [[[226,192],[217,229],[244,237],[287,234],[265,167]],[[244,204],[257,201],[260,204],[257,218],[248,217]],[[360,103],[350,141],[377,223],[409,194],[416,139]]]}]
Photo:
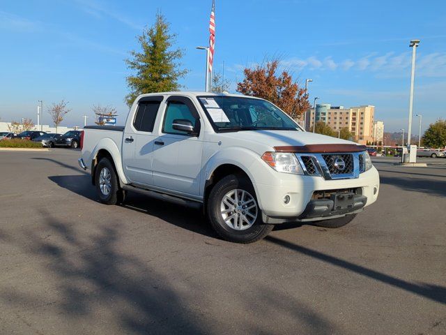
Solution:
[{"label": "tall green conical tree rising behind the pickup's cab roof", "polygon": [[178,64],[183,50],[171,50],[176,34],[170,34],[169,29],[169,22],[157,13],[153,27],[144,28],[142,35],[137,37],[141,52],[132,51],[131,59],[125,60],[128,68],[136,72],[127,77],[130,93],[125,102],[129,107],[139,94],[180,89],[178,79],[184,77],[187,70],[181,70]]}]

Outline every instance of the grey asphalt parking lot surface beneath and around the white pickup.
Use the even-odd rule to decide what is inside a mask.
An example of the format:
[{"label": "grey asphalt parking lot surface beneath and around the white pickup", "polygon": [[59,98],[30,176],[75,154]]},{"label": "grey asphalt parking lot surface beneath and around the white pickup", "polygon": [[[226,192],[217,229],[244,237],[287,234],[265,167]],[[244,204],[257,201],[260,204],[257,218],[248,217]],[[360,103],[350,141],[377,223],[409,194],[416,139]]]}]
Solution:
[{"label": "grey asphalt parking lot surface beneath and around the white pickup", "polygon": [[446,159],[376,158],[343,228],[256,244],[199,211],[96,201],[79,151],[0,151],[0,334],[446,334]]}]

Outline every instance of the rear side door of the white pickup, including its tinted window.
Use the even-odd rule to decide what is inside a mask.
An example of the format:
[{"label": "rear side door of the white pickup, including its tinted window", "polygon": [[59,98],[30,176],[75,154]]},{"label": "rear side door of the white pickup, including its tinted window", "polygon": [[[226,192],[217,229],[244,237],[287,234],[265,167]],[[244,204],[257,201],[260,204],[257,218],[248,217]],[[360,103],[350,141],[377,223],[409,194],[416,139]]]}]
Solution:
[{"label": "rear side door of the white pickup, including its tinted window", "polygon": [[133,119],[125,127],[123,166],[125,177],[132,184],[153,185],[153,127],[163,96],[141,98]]}]

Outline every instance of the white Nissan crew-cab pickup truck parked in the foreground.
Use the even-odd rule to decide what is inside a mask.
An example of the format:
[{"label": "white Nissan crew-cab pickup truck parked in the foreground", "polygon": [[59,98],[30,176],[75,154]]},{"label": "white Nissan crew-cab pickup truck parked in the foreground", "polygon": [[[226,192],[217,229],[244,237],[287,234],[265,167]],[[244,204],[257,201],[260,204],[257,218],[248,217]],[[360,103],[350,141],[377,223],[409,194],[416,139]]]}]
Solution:
[{"label": "white Nissan crew-cab pickup truck parked in the foreground", "polygon": [[307,133],[278,107],[234,94],[144,94],[125,126],[86,126],[79,165],[105,204],[137,191],[201,204],[215,231],[258,241],[284,222],[346,225],[376,201],[366,147]]}]

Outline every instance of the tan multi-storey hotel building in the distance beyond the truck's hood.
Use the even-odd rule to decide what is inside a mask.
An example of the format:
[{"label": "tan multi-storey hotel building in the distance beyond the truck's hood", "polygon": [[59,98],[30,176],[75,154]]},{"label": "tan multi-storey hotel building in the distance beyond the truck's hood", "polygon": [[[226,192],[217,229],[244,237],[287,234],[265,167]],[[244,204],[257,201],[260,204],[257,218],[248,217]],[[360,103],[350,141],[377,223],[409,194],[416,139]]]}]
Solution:
[{"label": "tan multi-storey hotel building in the distance beyond the truck's hood", "polygon": [[[331,106],[327,103],[316,104],[316,122],[324,121],[334,131],[348,128],[353,133],[353,140],[360,144],[373,142],[375,106],[364,105],[359,107]],[[300,116],[298,121],[302,121]],[[314,123],[314,108],[307,112],[307,131],[312,131]]]}]

